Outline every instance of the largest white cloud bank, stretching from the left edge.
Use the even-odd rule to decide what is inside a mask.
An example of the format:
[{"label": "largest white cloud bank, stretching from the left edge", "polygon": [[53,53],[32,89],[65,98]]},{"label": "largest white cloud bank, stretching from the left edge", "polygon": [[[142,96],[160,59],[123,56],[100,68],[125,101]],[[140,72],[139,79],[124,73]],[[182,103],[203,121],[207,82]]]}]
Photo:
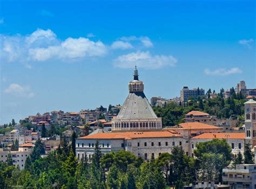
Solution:
[{"label": "largest white cloud bank, stretching from the left edge", "polygon": [[[49,59],[77,60],[85,57],[103,56],[107,46],[84,37],[65,40],[57,38],[50,29],[37,29],[28,36],[0,35],[1,59],[8,62],[42,62]],[[28,66],[29,68],[30,66]]]}]

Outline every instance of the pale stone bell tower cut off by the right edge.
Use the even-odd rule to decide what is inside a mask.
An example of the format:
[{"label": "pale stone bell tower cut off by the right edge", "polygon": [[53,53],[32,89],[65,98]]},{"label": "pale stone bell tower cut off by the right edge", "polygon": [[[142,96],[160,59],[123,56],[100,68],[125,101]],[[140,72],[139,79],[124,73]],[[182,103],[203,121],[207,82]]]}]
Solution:
[{"label": "pale stone bell tower cut off by the right edge", "polygon": [[245,140],[246,144],[256,146],[256,101],[245,103]]}]

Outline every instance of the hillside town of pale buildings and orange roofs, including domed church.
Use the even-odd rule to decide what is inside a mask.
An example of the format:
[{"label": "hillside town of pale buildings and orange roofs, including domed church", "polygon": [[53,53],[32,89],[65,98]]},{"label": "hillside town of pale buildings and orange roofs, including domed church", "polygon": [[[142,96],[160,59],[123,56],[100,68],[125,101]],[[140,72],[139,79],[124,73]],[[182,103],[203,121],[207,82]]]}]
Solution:
[{"label": "hillside town of pale buildings and orange roofs, including domed church", "polygon": [[[241,80],[235,89],[221,89],[220,93],[205,93],[204,89],[188,89],[184,86],[180,97],[165,99],[152,97],[151,104],[144,94],[144,83],[139,80],[137,68],[129,83],[129,95],[124,104],[100,106],[95,110],[79,112],[51,111],[28,116],[16,123],[0,127],[0,161],[25,168],[35,146],[43,145],[47,157],[51,153],[71,145],[78,161],[91,164],[96,147],[103,154],[127,151],[143,161],[159,159],[181,147],[187,157],[196,158],[199,144],[216,139],[225,140],[233,157],[251,160],[234,164],[234,159],[221,172],[223,183],[214,185],[213,180],[201,179],[191,182],[194,188],[254,188],[256,186],[256,89],[247,89]],[[219,117],[200,109],[200,100],[233,96],[244,100],[238,116]],[[196,101],[195,101],[196,100]],[[156,110],[171,106],[187,107],[195,101],[191,111],[181,115],[176,125],[166,125],[165,117],[158,117]],[[170,106],[170,107],[171,107]],[[205,110],[205,109],[204,109]],[[239,117],[240,116],[240,117]],[[254,162],[253,162],[254,161]],[[248,163],[249,162],[249,163]],[[184,186],[185,187],[185,186]],[[189,186],[188,186],[189,187]],[[192,185],[191,185],[192,187]]]}]

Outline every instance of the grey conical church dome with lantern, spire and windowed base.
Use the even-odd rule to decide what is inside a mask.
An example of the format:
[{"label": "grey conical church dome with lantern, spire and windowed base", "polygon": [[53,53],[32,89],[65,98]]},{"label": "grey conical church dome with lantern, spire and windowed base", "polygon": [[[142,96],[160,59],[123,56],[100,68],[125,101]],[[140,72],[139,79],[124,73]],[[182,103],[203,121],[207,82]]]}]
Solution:
[{"label": "grey conical church dome with lantern, spire and windowed base", "polygon": [[112,131],[161,130],[162,120],[156,116],[143,92],[144,83],[139,80],[136,66],[128,87],[129,95],[117,117],[112,119]]}]

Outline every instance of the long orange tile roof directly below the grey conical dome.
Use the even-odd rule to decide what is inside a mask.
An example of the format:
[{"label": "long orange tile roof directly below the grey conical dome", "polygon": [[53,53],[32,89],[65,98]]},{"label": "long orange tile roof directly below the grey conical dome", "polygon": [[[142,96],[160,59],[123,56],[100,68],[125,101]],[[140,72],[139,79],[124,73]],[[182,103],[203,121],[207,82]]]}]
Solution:
[{"label": "long orange tile roof directly below the grey conical dome", "polygon": [[175,131],[141,131],[141,132],[112,132],[92,134],[78,139],[134,139],[134,138],[166,138],[182,137]]}]

